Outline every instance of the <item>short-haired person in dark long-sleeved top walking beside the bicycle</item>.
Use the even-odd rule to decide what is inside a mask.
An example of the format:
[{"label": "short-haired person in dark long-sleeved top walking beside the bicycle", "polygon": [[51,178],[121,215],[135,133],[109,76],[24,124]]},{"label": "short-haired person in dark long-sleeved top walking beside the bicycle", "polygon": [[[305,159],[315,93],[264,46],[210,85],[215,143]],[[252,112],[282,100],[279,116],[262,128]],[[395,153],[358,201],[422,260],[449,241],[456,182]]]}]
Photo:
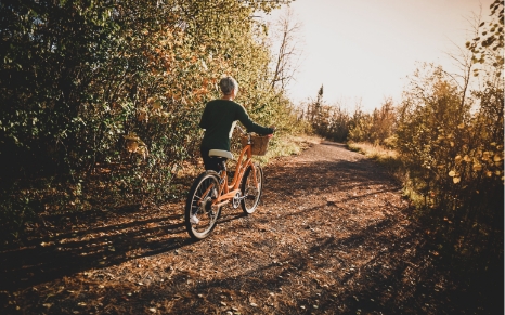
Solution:
[{"label": "short-haired person in dark long-sleeved top walking beside the bicycle", "polygon": [[224,158],[209,157],[209,150],[222,149],[230,150],[230,139],[233,134],[236,121],[241,121],[248,132],[258,134],[273,134],[275,127],[262,127],[247,115],[246,109],[233,102],[238,93],[238,83],[230,76],[221,79],[219,82],[222,97],[210,101],[206,104],[199,127],[205,130],[204,139],[200,145],[200,154],[206,170],[219,171]]}]

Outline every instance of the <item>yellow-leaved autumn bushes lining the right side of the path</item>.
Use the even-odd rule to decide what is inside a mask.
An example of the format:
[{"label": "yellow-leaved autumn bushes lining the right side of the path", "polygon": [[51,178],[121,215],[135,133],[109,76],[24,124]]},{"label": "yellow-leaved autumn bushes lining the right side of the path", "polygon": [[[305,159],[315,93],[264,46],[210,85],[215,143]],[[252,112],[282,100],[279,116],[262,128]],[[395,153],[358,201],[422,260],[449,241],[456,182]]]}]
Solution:
[{"label": "yellow-leaved autumn bushes lining the right side of the path", "polygon": [[503,262],[503,8],[495,1],[491,22],[481,23],[479,36],[466,43],[462,74],[424,65],[394,110],[388,105],[362,115],[350,129],[353,141],[396,148],[416,213],[476,283]]}]

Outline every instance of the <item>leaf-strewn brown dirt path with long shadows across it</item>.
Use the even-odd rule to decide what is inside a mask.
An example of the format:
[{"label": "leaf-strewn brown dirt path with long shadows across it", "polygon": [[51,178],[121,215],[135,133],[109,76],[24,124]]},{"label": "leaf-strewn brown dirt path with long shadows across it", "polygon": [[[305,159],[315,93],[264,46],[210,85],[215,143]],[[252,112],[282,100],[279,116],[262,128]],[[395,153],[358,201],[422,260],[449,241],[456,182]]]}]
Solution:
[{"label": "leaf-strewn brown dirt path with long shadows across it", "polygon": [[264,174],[257,212],[225,208],[199,242],[174,204],[68,218],[66,232],[0,252],[0,313],[464,313],[373,161],[324,142]]}]

